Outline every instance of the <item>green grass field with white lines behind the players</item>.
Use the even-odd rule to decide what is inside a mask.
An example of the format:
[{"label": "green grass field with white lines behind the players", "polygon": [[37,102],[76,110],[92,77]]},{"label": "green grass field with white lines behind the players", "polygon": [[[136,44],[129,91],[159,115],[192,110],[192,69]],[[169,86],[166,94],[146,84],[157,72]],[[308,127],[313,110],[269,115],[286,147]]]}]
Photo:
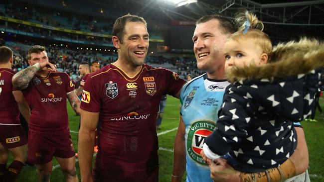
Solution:
[{"label": "green grass field with white lines behind the players", "polygon": [[[324,99],[321,98],[321,105],[324,106]],[[158,131],[159,136],[159,156],[160,156],[160,182],[169,182],[172,172],[173,163],[173,141],[176,128],[179,121],[179,100],[168,96],[164,116],[162,121],[162,129]],[[79,116],[68,105],[69,126],[71,129],[71,137],[75,151],[78,147],[78,125]],[[305,130],[306,140],[310,153],[309,173],[312,182],[324,182],[324,114],[317,114],[318,122],[304,121],[302,125]],[[11,159],[12,160],[12,159]],[[76,163],[77,175],[80,179],[79,164]],[[53,160],[53,172],[51,182],[64,182],[64,175],[61,172],[58,163]],[[183,177],[184,181],[185,177]],[[36,168],[25,166],[17,180],[17,182],[36,182]]]}]

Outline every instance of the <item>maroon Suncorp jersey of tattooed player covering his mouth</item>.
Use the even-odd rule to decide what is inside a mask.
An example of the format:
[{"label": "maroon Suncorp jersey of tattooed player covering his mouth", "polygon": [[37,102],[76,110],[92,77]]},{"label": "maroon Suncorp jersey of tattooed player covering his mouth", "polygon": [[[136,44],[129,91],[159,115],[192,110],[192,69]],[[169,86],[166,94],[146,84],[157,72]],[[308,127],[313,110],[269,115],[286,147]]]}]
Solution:
[{"label": "maroon Suncorp jersey of tattooed player covering his mouth", "polygon": [[23,95],[31,109],[29,129],[36,132],[58,132],[68,128],[66,93],[74,85],[64,72],[35,75]]}]

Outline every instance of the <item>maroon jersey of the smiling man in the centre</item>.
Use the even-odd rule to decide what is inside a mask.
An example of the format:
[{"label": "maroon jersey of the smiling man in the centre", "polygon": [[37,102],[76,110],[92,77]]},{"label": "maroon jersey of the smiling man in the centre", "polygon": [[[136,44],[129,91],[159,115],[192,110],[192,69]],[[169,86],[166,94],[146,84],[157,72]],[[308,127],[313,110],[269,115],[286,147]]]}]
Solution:
[{"label": "maroon jersey of the smiling man in the centre", "polygon": [[81,108],[100,112],[99,152],[107,170],[141,171],[158,161],[156,119],[163,94],[175,95],[186,81],[176,73],[144,64],[130,78],[109,64],[87,79]]}]

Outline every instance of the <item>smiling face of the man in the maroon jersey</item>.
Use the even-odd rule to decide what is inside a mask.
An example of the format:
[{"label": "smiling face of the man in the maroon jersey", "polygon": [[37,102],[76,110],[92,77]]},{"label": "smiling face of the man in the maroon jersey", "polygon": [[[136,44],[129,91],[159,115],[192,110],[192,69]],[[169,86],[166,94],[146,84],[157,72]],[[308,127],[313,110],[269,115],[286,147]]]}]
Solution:
[{"label": "smiling face of the man in the maroon jersey", "polygon": [[[124,31],[122,41],[119,40],[115,44],[119,59],[132,67],[142,66],[149,49],[149,33],[146,25],[142,22],[127,22]],[[114,37],[115,40],[118,39]]]}]

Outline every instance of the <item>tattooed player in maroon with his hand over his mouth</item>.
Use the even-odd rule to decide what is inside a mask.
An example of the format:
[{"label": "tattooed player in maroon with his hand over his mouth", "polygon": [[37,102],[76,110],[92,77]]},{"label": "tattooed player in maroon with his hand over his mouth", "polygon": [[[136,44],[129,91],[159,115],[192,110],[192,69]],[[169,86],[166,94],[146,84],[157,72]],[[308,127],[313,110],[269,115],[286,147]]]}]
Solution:
[{"label": "tattooed player in maroon with his hand over his mouth", "polygon": [[39,180],[49,182],[52,158],[61,166],[67,182],[77,182],[74,149],[68,128],[66,99],[79,113],[80,100],[64,72],[48,62],[42,46],[28,50],[29,67],[16,73],[13,86],[22,90],[30,108],[28,161],[36,164]]}]

